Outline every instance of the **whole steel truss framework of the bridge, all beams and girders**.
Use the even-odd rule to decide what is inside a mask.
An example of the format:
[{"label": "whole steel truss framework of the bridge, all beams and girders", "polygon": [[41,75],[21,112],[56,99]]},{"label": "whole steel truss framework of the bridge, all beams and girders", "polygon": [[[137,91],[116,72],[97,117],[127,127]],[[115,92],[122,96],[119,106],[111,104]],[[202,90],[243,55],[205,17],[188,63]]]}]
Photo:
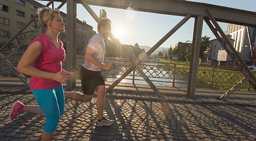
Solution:
[{"label": "whole steel truss framework of the bridge, all beams and girders", "polygon": [[[237,24],[244,25],[256,28],[256,12],[244,11],[240,9],[227,8],[224,6],[216,6],[210,4],[202,4],[198,2],[188,2],[188,1],[175,1],[175,0],[68,0],[68,1],[60,1],[56,0],[55,2],[61,2],[61,4],[57,8],[61,8],[64,4],[67,3],[67,70],[70,72],[74,72],[76,70],[76,11],[77,4],[82,4],[84,8],[89,12],[89,14],[95,19],[96,22],[99,22],[99,17],[95,14],[95,12],[90,8],[90,5],[96,6],[105,6],[110,8],[119,8],[126,9],[127,7],[132,7],[134,11],[142,11],[142,12],[152,12],[155,14],[166,14],[166,15],[176,15],[183,16],[184,18],[175,25],[170,31],[166,33],[165,36],[162,37],[152,48],[149,49],[145,53],[144,56],[138,61],[134,61],[131,56],[127,55],[126,58],[129,59],[132,66],[126,70],[118,78],[115,82],[113,82],[107,91],[110,91],[115,86],[117,86],[121,80],[126,78],[130,72],[133,70],[137,70],[143,79],[146,80],[147,84],[155,91],[156,94],[161,95],[156,86],[150,81],[150,79],[145,75],[142,69],[139,68],[140,63],[145,61],[147,56],[151,55],[163,42],[165,42],[170,36],[173,35],[178,29],[185,24],[190,18],[195,19],[193,26],[193,41],[191,47],[191,63],[189,66],[189,79],[188,79],[188,89],[187,96],[190,99],[195,99],[195,88],[196,88],[196,74],[198,70],[198,62],[199,62],[199,51],[201,44],[201,36],[202,36],[202,26],[205,21],[206,24],[211,29],[212,33],[214,33],[216,39],[221,43],[222,47],[231,57],[232,61],[235,62],[235,65],[238,67],[239,71],[244,75],[244,79],[237,83],[233,88],[229,89],[219,100],[224,100],[229,95],[231,95],[234,90],[239,88],[242,83],[249,82],[251,87],[256,92],[256,78],[254,74],[247,67],[245,62],[241,59],[237,51],[235,51],[231,42],[225,36],[225,33],[222,31],[218,22],[225,22],[229,24]],[[54,0],[48,2],[45,6],[52,5],[54,7]],[[19,32],[13,36],[8,43],[0,50],[1,64],[6,65],[12,73],[14,73],[26,86],[29,86],[29,80],[22,75],[22,73],[17,72],[16,67],[9,60],[12,55],[15,54],[17,49],[22,46],[25,41],[31,38],[31,36],[41,28],[41,25],[37,25],[36,18],[37,15],[34,16],[30,21],[25,24],[24,28],[22,28]],[[28,36],[21,42],[18,39],[18,35],[20,35],[29,25],[34,22],[35,29],[31,31]],[[160,22],[160,21],[159,21]],[[114,36],[110,35],[110,38],[113,40]],[[8,55],[3,55],[2,52],[4,49],[14,40],[17,40],[18,45],[13,49],[12,52],[9,52]],[[67,81],[67,89],[71,90],[76,87],[76,79],[70,79]]]}]

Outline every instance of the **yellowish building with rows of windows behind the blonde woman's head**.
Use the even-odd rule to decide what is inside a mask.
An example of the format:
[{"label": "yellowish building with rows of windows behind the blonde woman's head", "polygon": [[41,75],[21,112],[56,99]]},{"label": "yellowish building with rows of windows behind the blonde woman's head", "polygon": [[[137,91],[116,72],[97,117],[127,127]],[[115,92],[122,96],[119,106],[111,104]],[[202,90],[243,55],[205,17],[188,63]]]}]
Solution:
[{"label": "yellowish building with rows of windows behind the blonde woman's head", "polygon": [[[16,35],[25,24],[36,15],[37,9],[43,6],[42,4],[31,0],[1,0],[0,1],[0,49],[9,42],[10,39]],[[37,20],[37,24],[40,22]],[[19,42],[22,42],[29,32],[33,31],[35,23],[28,26],[20,35],[18,35]],[[40,28],[31,39],[28,39],[17,52],[24,52],[29,43],[38,35],[41,35],[44,29]],[[4,51],[9,52],[12,48],[18,45],[15,39]]]}]

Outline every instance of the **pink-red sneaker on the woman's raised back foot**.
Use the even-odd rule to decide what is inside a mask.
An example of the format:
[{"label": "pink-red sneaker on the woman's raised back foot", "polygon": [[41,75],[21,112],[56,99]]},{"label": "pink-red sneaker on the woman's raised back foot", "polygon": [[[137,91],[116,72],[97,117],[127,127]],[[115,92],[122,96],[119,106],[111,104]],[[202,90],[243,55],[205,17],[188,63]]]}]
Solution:
[{"label": "pink-red sneaker on the woman's raised back foot", "polygon": [[9,117],[11,119],[16,119],[18,115],[23,113],[24,104],[19,102],[18,100],[12,103],[11,112],[9,113]]}]

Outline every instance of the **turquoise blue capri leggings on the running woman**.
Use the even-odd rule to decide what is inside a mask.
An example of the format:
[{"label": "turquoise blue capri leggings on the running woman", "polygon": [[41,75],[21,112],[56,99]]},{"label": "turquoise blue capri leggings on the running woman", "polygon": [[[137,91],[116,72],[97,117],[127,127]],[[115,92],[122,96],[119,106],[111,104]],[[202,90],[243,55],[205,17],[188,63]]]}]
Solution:
[{"label": "turquoise blue capri leggings on the running woman", "polygon": [[44,131],[47,133],[54,132],[60,116],[64,113],[65,98],[63,85],[61,84],[57,88],[52,89],[34,89],[31,91],[46,117]]}]

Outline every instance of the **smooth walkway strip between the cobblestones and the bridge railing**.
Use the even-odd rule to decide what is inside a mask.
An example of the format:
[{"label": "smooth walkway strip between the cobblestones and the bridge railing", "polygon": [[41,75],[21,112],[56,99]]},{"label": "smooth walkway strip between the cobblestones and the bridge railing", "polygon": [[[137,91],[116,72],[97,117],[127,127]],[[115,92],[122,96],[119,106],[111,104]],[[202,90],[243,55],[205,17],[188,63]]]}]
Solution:
[{"label": "smooth walkway strip between the cobblestones and the bridge railing", "polygon": [[[112,82],[106,82],[106,88]],[[64,83],[65,90],[65,83]],[[220,101],[216,98],[224,95],[227,90],[196,88],[196,99],[186,97],[186,88],[176,88],[170,86],[156,86],[162,95],[156,95],[148,85],[119,83],[112,92],[107,93],[107,97],[127,97],[137,99],[155,99],[177,102],[196,102],[196,103],[237,103],[256,105],[256,93],[248,91],[235,91],[227,100]],[[76,80],[76,88],[73,91],[81,92],[81,81]],[[31,93],[18,78],[0,77],[0,92],[4,93]]]}]

